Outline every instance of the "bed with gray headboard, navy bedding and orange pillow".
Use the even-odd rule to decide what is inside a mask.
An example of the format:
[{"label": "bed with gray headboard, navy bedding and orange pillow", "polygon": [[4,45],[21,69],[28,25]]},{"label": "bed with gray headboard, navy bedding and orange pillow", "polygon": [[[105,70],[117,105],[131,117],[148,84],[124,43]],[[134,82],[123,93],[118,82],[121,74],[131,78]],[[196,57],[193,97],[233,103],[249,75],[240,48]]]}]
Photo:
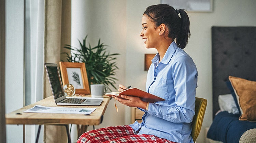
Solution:
[{"label": "bed with gray headboard, navy bedding and orange pillow", "polygon": [[208,139],[256,140],[255,81],[256,27],[212,27],[213,122]]}]

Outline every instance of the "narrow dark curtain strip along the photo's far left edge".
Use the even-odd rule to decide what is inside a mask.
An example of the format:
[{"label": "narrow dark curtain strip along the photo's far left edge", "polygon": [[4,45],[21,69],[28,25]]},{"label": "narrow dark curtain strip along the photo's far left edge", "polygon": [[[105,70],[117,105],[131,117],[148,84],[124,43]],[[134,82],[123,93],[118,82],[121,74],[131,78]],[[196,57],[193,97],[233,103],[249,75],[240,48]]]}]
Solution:
[{"label": "narrow dark curtain strip along the photo's far left edge", "polygon": [[5,1],[0,0],[0,143],[6,142],[5,133]]}]

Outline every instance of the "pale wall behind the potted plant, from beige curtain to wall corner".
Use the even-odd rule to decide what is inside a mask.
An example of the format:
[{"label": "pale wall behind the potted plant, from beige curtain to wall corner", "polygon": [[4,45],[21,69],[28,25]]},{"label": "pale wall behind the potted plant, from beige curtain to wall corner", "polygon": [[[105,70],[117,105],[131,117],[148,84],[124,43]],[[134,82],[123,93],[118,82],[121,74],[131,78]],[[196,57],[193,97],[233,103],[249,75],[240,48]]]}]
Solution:
[{"label": "pale wall behind the potted plant, from beige curtain to wall corner", "polygon": [[[120,0],[75,0],[71,3],[71,45],[79,47],[78,40],[82,41],[86,35],[87,44],[92,47],[98,44],[98,40],[105,45],[110,53],[120,53],[117,57],[118,70],[116,78],[118,84],[125,83],[126,61],[126,2]],[[88,46],[88,45],[87,45]],[[112,89],[115,91],[114,89]],[[103,123],[95,128],[105,126],[124,125],[125,107],[117,103],[118,112],[114,106],[114,100],[110,100],[104,114]],[[72,126],[72,142],[76,138],[76,127]],[[92,126],[88,130],[93,129]]]}]

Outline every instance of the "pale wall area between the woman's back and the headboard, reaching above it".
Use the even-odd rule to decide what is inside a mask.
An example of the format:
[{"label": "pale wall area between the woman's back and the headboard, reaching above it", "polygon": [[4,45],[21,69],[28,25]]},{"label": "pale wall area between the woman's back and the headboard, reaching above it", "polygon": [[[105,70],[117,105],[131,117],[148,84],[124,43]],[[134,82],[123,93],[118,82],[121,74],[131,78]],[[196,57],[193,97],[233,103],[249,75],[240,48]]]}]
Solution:
[{"label": "pale wall area between the woman's back and the headboard, reaching above it", "polygon": [[212,13],[188,13],[191,37],[185,51],[193,58],[199,73],[196,96],[208,100],[198,143],[204,142],[204,128],[212,123],[211,27],[256,26],[255,14],[255,0],[214,0]]}]

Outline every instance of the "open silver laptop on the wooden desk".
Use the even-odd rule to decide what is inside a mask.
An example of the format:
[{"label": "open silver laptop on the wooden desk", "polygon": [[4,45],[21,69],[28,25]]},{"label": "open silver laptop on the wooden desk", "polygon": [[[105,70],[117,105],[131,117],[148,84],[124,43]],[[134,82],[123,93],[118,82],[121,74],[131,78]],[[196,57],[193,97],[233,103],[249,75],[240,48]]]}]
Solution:
[{"label": "open silver laptop on the wooden desk", "polygon": [[53,97],[57,105],[99,106],[101,104],[103,100],[102,98],[66,98],[57,64],[45,63],[44,65],[51,85]]}]

